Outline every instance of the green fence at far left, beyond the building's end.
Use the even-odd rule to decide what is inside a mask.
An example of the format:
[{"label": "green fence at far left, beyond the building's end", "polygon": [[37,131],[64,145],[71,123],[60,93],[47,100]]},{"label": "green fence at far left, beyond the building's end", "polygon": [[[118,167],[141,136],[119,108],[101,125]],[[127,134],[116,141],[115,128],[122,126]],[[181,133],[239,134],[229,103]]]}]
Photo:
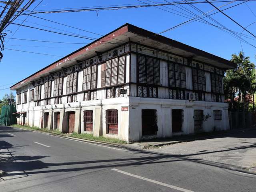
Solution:
[{"label": "green fence at far left, beyond the building's end", "polygon": [[14,105],[2,106],[2,111],[0,115],[0,125],[10,126],[12,124],[16,124],[16,115],[12,115],[12,113],[16,112],[16,106]]}]

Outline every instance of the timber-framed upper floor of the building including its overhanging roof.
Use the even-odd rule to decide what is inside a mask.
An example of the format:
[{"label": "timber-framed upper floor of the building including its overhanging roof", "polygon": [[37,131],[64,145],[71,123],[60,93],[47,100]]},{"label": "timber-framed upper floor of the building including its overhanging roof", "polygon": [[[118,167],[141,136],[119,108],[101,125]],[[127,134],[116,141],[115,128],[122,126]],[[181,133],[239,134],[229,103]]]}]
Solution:
[{"label": "timber-framed upper floor of the building including its overhanging roof", "polygon": [[223,102],[224,71],[234,67],[218,56],[125,24],[11,90],[24,106],[122,96]]}]

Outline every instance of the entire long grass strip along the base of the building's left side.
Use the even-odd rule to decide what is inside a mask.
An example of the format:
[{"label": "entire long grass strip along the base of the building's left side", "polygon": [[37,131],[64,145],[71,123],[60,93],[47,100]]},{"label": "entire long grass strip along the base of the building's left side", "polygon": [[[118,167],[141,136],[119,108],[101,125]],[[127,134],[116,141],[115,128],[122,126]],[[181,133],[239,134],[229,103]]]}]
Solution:
[{"label": "entire long grass strip along the base of the building's left side", "polygon": [[75,138],[88,139],[88,140],[93,140],[93,141],[103,141],[103,142],[109,142],[109,143],[127,144],[126,141],[123,141],[120,139],[106,138],[103,136],[94,137],[92,134],[83,134],[83,133],[82,134],[78,134],[78,133],[65,134],[65,133],[60,132],[59,130],[39,129],[38,127],[29,127],[29,126],[23,126],[23,125],[18,125],[18,124],[14,124],[12,126],[17,127],[17,128],[27,129],[27,130],[36,130],[36,131],[54,133],[54,134],[59,134],[59,135],[64,135],[64,136],[75,137]]}]

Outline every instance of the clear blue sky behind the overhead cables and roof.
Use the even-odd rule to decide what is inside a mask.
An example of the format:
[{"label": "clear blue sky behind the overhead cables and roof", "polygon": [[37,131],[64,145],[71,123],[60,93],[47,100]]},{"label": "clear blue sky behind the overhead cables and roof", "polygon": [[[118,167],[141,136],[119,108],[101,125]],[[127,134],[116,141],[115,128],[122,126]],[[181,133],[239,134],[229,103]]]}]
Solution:
[{"label": "clear blue sky behind the overhead cables and roof", "polygon": [[[142,0],[143,2],[148,2],[147,0]],[[154,2],[166,3],[164,0],[152,0]],[[200,0],[202,1],[202,0]],[[40,0],[37,0],[29,10],[32,10]],[[170,1],[171,2],[171,1]],[[218,2],[214,3],[216,6],[221,6],[227,4],[228,2]],[[234,2],[222,9],[238,4],[240,2]],[[120,4],[142,4],[138,0],[75,0],[75,1],[63,1],[63,0],[43,0],[42,3],[35,9],[36,10],[50,10],[50,9],[61,9],[61,8],[77,8],[77,7],[90,7],[90,6],[107,6],[107,5],[120,5]],[[246,4],[251,8],[252,12],[256,15],[256,1],[248,1]],[[246,27],[252,22],[256,21],[256,16],[250,11],[245,3],[230,8],[224,11],[242,26]],[[197,8],[200,8],[204,12],[213,10],[214,8],[210,4],[194,4]],[[182,11],[175,6],[168,6],[169,8]],[[200,14],[188,5],[184,5],[185,8],[191,10],[196,14]],[[161,7],[162,9],[174,12],[166,7]],[[184,12],[185,13],[185,12]],[[186,13],[188,14],[188,13]],[[180,24],[188,18],[172,14],[170,12],[161,10],[156,7],[149,8],[134,8],[134,9],[122,9],[122,10],[102,10],[99,11],[98,16],[96,12],[70,12],[70,13],[52,13],[52,14],[36,14],[36,16],[60,22],[62,24],[74,26],[76,28],[81,28],[88,30],[90,32],[95,32],[98,34],[107,34],[108,32],[118,28],[119,26],[125,24],[126,22],[145,28],[152,32],[161,32],[167,28],[171,28],[177,24]],[[21,23],[26,16],[20,16],[14,21],[15,23]],[[234,24],[231,20],[226,18],[223,14],[217,13],[212,16],[215,20],[220,22],[222,25],[230,30],[236,32],[242,32],[242,28]],[[207,19],[211,23],[212,20]],[[90,34],[81,30],[76,30],[74,28],[65,27],[62,25],[54,24],[52,22],[47,22],[38,18],[29,16],[24,25],[34,26],[38,28],[44,28],[47,30],[54,30],[57,32],[63,32],[60,30],[65,30],[68,32],[80,34],[82,36],[90,36],[93,38],[99,38],[100,36],[95,34]],[[43,25],[43,26],[42,26]],[[49,28],[51,27],[51,28]],[[52,29],[56,28],[56,29]],[[10,24],[7,28],[11,30],[12,33],[8,34],[6,37],[11,37],[12,34],[17,29],[16,25]],[[58,30],[57,30],[58,29]],[[250,32],[256,34],[256,24],[253,24],[247,28]],[[67,32],[65,32],[67,33]],[[250,35],[247,32],[243,34]],[[162,34],[168,38],[172,38],[184,44],[196,47],[198,49],[210,52],[222,58],[230,60],[231,54],[238,53],[241,51],[240,41],[226,32],[219,30],[214,26],[210,26],[201,22],[192,22],[190,24],[181,26],[174,30],[170,30]],[[32,42],[32,41],[22,41],[22,40],[9,40],[5,39],[6,45],[5,50],[2,52],[4,58],[0,63],[0,98],[5,93],[9,93],[10,90],[5,89],[18,82],[27,76],[33,74],[34,72],[40,70],[41,68],[51,64],[52,62],[60,59],[61,57],[73,52],[74,50],[90,43],[90,40],[69,37],[60,34],[52,34],[50,32],[43,32],[32,28],[25,28],[21,26],[18,31],[14,34],[12,38],[23,38],[23,39],[33,39],[33,40],[46,40],[46,41],[59,41],[59,42],[75,42],[84,44],[57,44],[48,42]],[[256,46],[256,39],[251,40],[244,38],[251,44]],[[8,43],[7,43],[8,42]],[[254,63],[256,48],[242,43],[244,54],[250,56],[250,60]],[[38,52],[44,54],[52,54],[56,56],[46,56],[40,54],[32,54],[26,52],[17,52],[16,49],[24,50],[28,52]],[[10,85],[6,85],[10,84]],[[3,90],[5,89],[5,90]]]}]

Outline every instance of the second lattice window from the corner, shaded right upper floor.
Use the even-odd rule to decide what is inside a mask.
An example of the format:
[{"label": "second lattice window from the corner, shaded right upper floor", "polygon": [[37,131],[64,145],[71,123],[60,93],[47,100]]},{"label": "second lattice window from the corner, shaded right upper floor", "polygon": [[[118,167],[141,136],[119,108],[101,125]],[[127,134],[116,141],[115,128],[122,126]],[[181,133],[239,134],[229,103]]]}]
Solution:
[{"label": "second lattice window from the corner, shaded right upper floor", "polygon": [[180,64],[168,63],[169,86],[186,88],[185,66]]}]

